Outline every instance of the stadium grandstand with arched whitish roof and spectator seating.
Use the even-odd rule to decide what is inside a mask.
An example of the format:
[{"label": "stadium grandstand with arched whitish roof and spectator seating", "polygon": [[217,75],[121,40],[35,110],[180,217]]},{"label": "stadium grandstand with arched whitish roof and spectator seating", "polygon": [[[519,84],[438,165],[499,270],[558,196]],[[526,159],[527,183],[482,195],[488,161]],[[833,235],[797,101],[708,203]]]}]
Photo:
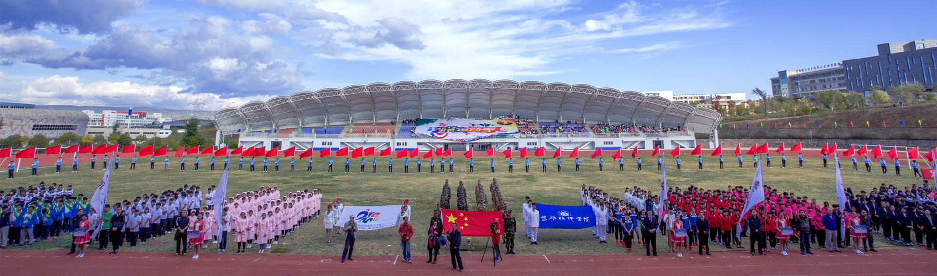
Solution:
[{"label": "stadium grandstand with arched whitish roof and spectator seating", "polygon": [[[718,138],[721,122],[715,110],[660,96],[513,80],[350,85],[277,96],[215,115],[219,135],[237,135],[242,146],[301,150],[692,148],[696,133]],[[446,119],[472,126],[502,119],[498,124],[513,123],[516,131],[455,139],[448,134],[457,130],[432,127],[455,122]]]}]

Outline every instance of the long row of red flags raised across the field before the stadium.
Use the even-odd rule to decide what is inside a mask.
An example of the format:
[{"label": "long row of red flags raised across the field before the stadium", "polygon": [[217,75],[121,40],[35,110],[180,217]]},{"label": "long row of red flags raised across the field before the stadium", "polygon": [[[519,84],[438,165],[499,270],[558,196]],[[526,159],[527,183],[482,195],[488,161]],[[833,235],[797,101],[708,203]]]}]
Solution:
[{"label": "long row of red flags raised across the field before the stadium", "polygon": [[[25,149],[16,153],[15,157],[16,158],[34,158],[36,156],[36,152],[37,152],[36,150],[37,150],[36,147]],[[119,150],[120,150],[120,153],[137,153],[136,145],[126,146],[123,149],[119,149]],[[503,151],[504,158],[505,159],[511,158],[513,156],[513,151],[514,150],[511,148],[504,150]],[[791,147],[789,151],[791,152],[801,151],[801,144],[797,143],[796,145]],[[839,150],[837,149],[836,143],[833,143],[833,145],[826,143],[823,146],[823,149],[821,149],[820,153],[836,154],[838,151]],[[62,146],[54,146],[54,147],[46,148],[46,154],[59,154],[59,153],[104,154],[104,153],[117,153],[117,152],[118,152],[117,145],[98,145],[97,147],[92,146],[92,145],[86,145],[86,146],[74,145],[74,146],[70,146],[67,148],[63,148]],[[485,152],[488,153],[488,156],[492,156],[495,154],[494,149],[487,149],[485,150]],[[521,148],[517,150],[517,152],[519,153],[520,158],[524,158],[528,156],[528,148]],[[775,152],[783,153],[784,143],[781,143],[781,147],[778,147],[778,149],[775,150]],[[937,154],[934,152],[935,151],[924,153],[923,158],[932,162],[935,157],[934,155]],[[11,156],[11,153],[12,153],[11,148],[0,149],[0,157],[9,157]],[[138,154],[141,156],[146,156],[146,155],[160,156],[160,155],[167,155],[168,153],[169,153],[168,146],[163,146],[161,148],[157,148],[156,150],[154,150],[153,146],[146,146],[146,147],[141,148]],[[241,146],[231,151],[231,154],[240,154],[240,156],[277,156],[280,153],[283,153],[284,156],[296,155],[296,147],[291,147],[289,149],[280,151],[277,147],[274,147],[273,149],[270,149],[270,150],[266,150],[264,147],[260,147],[260,148],[250,147],[250,148],[244,149],[244,146]],[[308,150],[305,150],[305,152],[303,153],[299,153],[299,157],[300,158],[309,157],[309,156],[312,156],[313,153],[314,153],[313,149],[308,149]],[[350,158],[358,158],[361,156],[374,155],[375,149],[374,147],[357,148],[354,150],[350,150],[349,148],[342,148],[342,149],[339,149],[338,151],[335,151],[335,156],[346,156],[346,155],[349,155],[349,153],[350,153]],[[427,151],[426,153],[423,153],[422,155],[423,155],[423,158],[430,158],[430,157],[433,157],[434,155],[435,156],[449,156],[452,153],[453,152],[451,148],[446,149],[446,150],[439,148],[439,149],[436,149],[435,151],[433,150]],[[534,150],[534,155],[536,156],[543,156],[545,153],[546,153],[546,149],[544,147],[540,147]],[[660,153],[661,153],[661,148],[655,148],[654,152],[651,153],[651,156],[656,156],[657,154],[660,154]],[[690,154],[697,155],[701,153],[703,153],[703,149],[701,148],[700,145],[696,145],[696,148],[694,148],[692,153]],[[741,145],[736,145],[736,151],[734,153],[736,154],[736,156],[742,153]],[[757,144],[751,145],[751,149],[749,149],[749,151],[746,152],[745,154],[758,154],[758,153],[768,153],[767,144],[763,144],[761,146]],[[855,154],[863,154],[863,153],[872,153],[872,158],[878,158],[879,156],[885,155],[882,153],[881,145],[876,146],[871,151],[869,151],[866,145],[863,145],[862,148],[859,148],[858,150],[855,150],[854,145],[850,145],[848,149],[842,152],[842,155],[846,156],[846,155],[855,155]],[[906,150],[905,153],[907,154],[908,159],[920,159],[922,157],[920,154],[920,150],[916,147]],[[214,154],[215,156],[227,155],[228,146],[223,146],[217,150],[215,149],[214,146],[205,147],[203,149],[200,148],[199,146],[193,146],[188,149],[186,149],[186,147],[179,147],[176,149],[174,153],[175,157],[183,157],[186,154],[189,154],[189,155],[191,154]],[[632,158],[637,156],[637,154],[638,154],[638,149],[637,148],[632,149]],[[674,156],[679,155],[680,147],[677,146],[677,148],[672,150],[670,154]],[[722,154],[721,145],[716,147],[716,150],[712,152],[712,156],[716,156],[719,154]],[[887,154],[888,154],[889,159],[898,158],[898,148],[897,147],[892,148],[891,151],[887,152]],[[332,148],[325,148],[319,151],[320,157],[331,156],[331,155],[332,155]],[[387,148],[387,149],[381,150],[379,152],[379,155],[380,156],[394,155],[394,151],[391,148]],[[397,150],[395,155],[397,157],[408,157],[408,156],[416,157],[416,156],[421,155],[421,153],[419,149],[411,149],[411,150],[402,149],[402,150]],[[472,158],[474,155],[474,152],[468,151],[464,153],[463,155],[465,155],[466,159]],[[553,158],[558,158],[559,156],[560,156],[560,150],[557,149],[553,153]],[[592,159],[595,159],[595,157],[598,157],[598,156],[602,156],[601,148],[596,149],[591,155]],[[569,157],[570,158],[579,157],[579,148],[574,148],[573,153],[570,153]],[[621,150],[620,149],[617,150],[616,153],[612,154],[612,157],[615,159],[621,158]]]}]

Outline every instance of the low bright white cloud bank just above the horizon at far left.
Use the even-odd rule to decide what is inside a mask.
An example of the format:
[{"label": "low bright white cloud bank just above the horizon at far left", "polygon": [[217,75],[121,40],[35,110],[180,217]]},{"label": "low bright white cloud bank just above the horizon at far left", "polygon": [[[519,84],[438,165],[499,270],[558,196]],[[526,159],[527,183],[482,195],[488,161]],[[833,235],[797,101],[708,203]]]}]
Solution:
[{"label": "low bright white cloud bank just above the horizon at far left", "polygon": [[0,98],[16,99],[45,105],[135,105],[166,109],[188,109],[188,104],[201,99],[202,109],[214,110],[244,105],[245,99],[222,98],[218,94],[191,93],[176,86],[142,85],[130,81],[97,81],[84,83],[79,77],[54,75],[24,81],[22,91],[0,93]]}]

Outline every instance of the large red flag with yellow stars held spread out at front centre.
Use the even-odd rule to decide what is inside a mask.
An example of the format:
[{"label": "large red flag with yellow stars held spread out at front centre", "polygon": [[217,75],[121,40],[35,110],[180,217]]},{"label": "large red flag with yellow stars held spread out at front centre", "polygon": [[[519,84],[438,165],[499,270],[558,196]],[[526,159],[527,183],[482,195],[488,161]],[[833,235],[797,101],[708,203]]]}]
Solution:
[{"label": "large red flag with yellow stars held spread out at front centre", "polygon": [[457,211],[442,210],[442,231],[448,232],[453,224],[462,232],[462,236],[487,237],[491,236],[488,225],[498,223],[500,233],[504,233],[504,224],[501,222],[501,211]]}]

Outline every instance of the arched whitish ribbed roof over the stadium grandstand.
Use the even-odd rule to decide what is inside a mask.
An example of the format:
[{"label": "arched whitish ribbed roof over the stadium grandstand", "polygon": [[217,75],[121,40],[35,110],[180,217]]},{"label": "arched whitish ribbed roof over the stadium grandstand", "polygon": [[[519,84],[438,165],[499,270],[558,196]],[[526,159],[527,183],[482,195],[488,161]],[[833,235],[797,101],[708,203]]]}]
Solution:
[{"label": "arched whitish ribbed roof over the stadium grandstand", "polygon": [[466,118],[502,115],[537,122],[638,123],[684,126],[711,132],[721,122],[713,109],[693,108],[666,98],[587,84],[513,80],[424,80],[326,88],[250,102],[216,112],[224,134],[270,127],[382,123],[403,119]]}]

